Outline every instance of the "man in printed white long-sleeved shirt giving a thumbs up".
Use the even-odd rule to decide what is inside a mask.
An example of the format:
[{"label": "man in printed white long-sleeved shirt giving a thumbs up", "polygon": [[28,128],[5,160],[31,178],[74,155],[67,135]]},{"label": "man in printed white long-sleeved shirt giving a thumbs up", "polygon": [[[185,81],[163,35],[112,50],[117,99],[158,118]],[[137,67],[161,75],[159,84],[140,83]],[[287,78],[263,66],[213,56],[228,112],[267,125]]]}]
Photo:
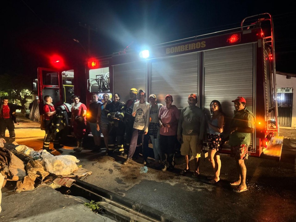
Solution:
[{"label": "man in printed white long-sleeved shirt giving a thumbs up", "polygon": [[145,101],[146,92],[142,89],[139,90],[140,101],[135,102],[133,107],[132,116],[135,117],[134,129],[130,141],[129,154],[123,164],[127,164],[133,157],[137,146],[138,136],[143,137],[148,133],[149,117],[150,117],[150,104]]}]

